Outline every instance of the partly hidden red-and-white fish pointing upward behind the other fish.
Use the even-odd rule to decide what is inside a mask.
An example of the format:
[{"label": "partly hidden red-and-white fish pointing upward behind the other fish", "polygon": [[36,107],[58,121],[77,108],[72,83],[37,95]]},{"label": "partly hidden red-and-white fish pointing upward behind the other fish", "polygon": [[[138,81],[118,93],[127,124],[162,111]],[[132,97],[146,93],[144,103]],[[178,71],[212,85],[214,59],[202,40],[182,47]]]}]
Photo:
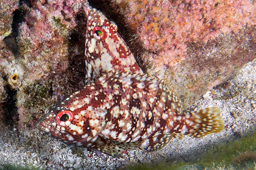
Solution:
[{"label": "partly hidden red-and-white fish pointing upward behind the other fish", "polygon": [[117,25],[100,10],[91,9],[85,40],[86,84],[95,82],[111,70],[143,73],[117,29]]}]

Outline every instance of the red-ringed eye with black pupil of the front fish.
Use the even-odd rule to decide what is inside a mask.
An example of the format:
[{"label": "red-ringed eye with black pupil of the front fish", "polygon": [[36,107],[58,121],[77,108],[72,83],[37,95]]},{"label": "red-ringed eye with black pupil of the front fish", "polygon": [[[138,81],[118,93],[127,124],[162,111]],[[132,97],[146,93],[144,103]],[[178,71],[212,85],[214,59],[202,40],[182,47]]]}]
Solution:
[{"label": "red-ringed eye with black pupil of the front fish", "polygon": [[56,121],[60,126],[69,126],[74,119],[74,113],[70,110],[62,110],[56,115]]}]

